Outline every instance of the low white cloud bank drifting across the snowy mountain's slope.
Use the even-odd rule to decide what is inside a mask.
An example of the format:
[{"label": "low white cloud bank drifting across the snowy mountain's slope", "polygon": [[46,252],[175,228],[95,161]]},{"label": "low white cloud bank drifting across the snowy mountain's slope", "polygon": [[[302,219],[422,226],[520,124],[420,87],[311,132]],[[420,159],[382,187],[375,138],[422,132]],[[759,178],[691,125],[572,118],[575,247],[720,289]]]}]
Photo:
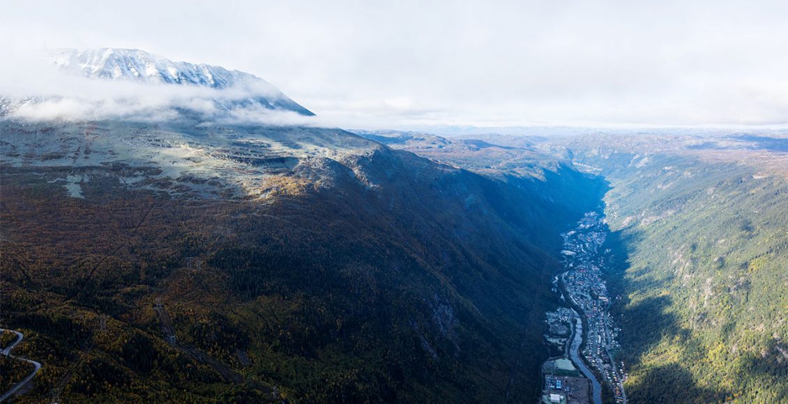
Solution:
[{"label": "low white cloud bank drifting across the snowy mountain's slope", "polygon": [[[325,126],[317,117],[267,108],[281,93],[253,81],[226,89],[88,79],[46,54],[14,58],[0,71],[0,114],[17,120],[197,120],[199,124]],[[5,109],[3,111],[2,109]]]}]

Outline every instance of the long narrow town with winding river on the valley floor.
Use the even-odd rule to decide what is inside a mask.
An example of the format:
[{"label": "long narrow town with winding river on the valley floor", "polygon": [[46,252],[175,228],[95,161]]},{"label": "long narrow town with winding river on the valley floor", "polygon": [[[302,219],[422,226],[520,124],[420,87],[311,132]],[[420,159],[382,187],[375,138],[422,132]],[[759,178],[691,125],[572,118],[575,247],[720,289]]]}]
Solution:
[{"label": "long narrow town with winding river on the valley floor", "polygon": [[608,231],[604,218],[590,212],[562,234],[565,271],[554,278],[553,291],[565,306],[547,313],[545,343],[551,358],[542,366],[545,404],[601,404],[603,384],[616,403],[626,403],[624,364],[615,361],[620,330],[610,315],[611,297],[602,277],[610,254],[601,250]]}]

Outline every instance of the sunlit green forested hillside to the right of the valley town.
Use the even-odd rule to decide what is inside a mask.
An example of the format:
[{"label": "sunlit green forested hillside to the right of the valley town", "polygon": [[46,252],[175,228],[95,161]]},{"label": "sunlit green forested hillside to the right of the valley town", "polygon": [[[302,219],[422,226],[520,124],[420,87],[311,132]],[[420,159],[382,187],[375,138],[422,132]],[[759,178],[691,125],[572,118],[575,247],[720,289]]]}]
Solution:
[{"label": "sunlit green forested hillside to the right of the valley town", "polygon": [[788,400],[788,156],[730,139],[563,144],[611,182],[630,401]]}]

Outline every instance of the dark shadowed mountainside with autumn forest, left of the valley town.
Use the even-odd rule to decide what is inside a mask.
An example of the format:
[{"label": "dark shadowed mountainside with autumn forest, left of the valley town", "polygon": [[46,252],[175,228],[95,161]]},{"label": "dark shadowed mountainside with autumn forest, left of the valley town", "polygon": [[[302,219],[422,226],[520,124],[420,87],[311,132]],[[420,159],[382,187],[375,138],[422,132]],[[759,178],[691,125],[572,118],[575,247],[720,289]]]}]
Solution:
[{"label": "dark shadowed mountainside with autumn forest, left of the valley town", "polygon": [[528,401],[558,232],[603,189],[336,130],[5,130],[2,318],[43,363],[18,402]]}]

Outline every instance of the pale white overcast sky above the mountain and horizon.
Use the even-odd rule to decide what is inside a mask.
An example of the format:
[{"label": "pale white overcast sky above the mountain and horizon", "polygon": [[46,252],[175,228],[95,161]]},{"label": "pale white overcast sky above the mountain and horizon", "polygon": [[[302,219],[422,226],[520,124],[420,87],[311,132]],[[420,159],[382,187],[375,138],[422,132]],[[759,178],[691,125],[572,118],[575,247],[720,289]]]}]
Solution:
[{"label": "pale white overcast sky above the mountain and horizon", "polygon": [[784,0],[65,3],[3,5],[4,80],[44,46],[125,47],[251,72],[345,128],[788,123]]}]

